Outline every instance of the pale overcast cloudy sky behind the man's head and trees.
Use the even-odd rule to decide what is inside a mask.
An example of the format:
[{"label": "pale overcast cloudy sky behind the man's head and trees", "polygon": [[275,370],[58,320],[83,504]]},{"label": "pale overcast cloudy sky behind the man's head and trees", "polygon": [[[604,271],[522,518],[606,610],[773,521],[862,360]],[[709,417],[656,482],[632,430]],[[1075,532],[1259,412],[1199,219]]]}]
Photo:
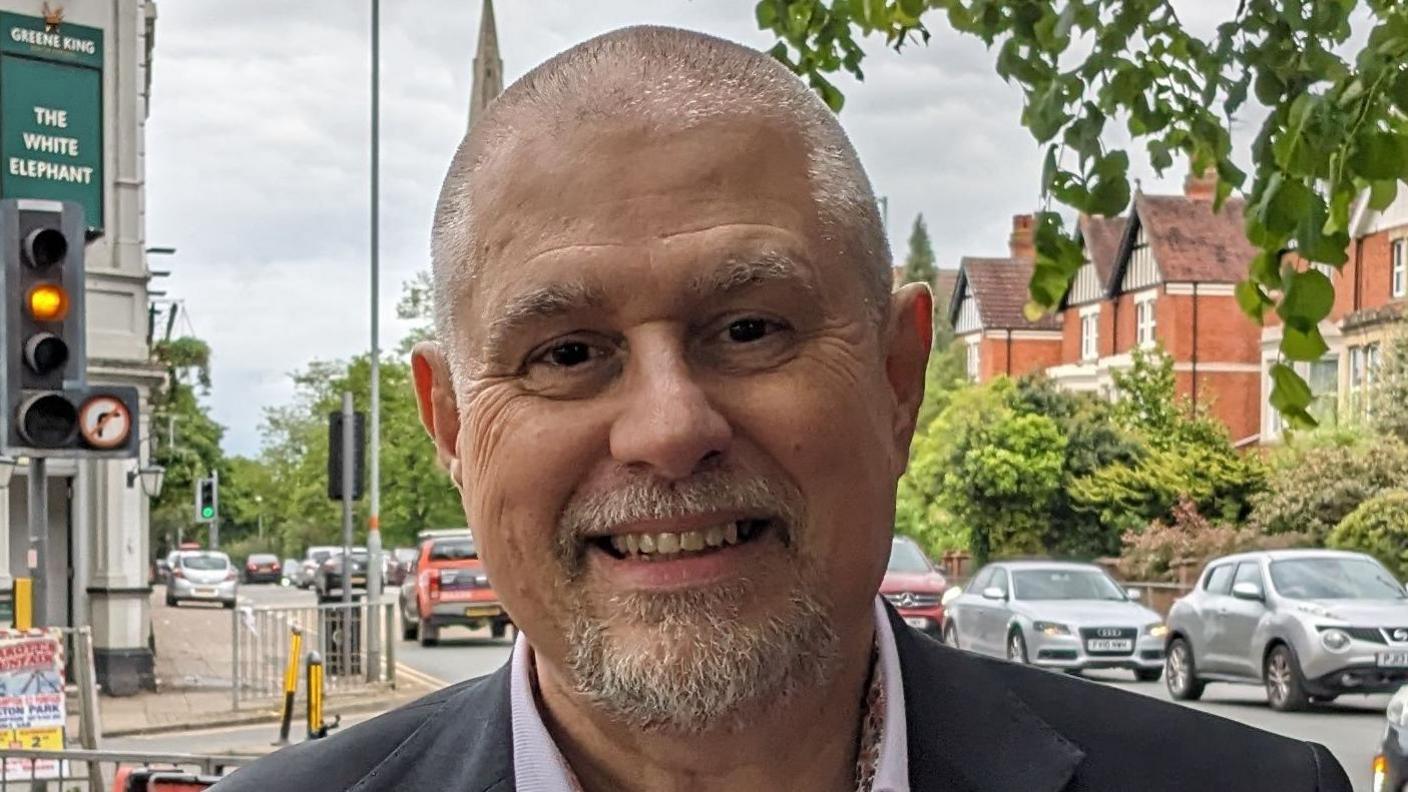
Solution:
[{"label": "pale overcast cloudy sky behind the man's head and trees", "polygon": [[[465,132],[482,0],[382,4],[383,347],[394,304],[427,268],[431,211]],[[1184,18],[1198,24],[1200,6]],[[758,47],[753,0],[498,0],[507,78],[627,24],[662,23]],[[148,241],[177,254],[161,287],[214,349],[210,403],[227,451],[253,454],[266,406],[310,359],[369,347],[370,10],[367,0],[161,4],[148,121]],[[1039,151],[1021,94],[974,39],[935,31],[895,55],[870,42],[866,82],[841,85],[842,123],[879,194],[897,255],[924,213],[942,266],[1001,254],[1035,204]],[[1138,159],[1138,158],[1136,158]],[[1181,173],[1170,176],[1181,178]],[[1145,175],[1149,192],[1177,189]]]}]

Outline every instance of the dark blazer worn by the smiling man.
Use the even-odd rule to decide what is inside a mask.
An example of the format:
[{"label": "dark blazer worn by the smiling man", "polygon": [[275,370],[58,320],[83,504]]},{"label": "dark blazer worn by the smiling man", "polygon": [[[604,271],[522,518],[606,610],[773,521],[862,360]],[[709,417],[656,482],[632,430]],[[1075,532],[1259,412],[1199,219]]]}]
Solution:
[{"label": "dark blazer worn by the smiling man", "polygon": [[[914,792],[1350,792],[1324,747],[976,657],[890,612]],[[218,792],[514,789],[508,665],[237,771]]]}]

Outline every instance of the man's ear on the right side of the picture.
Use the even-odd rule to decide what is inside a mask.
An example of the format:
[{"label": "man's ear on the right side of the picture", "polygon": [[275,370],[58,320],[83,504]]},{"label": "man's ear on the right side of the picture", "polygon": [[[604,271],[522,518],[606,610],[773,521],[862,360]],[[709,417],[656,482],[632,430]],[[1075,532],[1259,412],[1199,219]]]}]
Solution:
[{"label": "man's ear on the right side of the picture", "polygon": [[934,293],[926,283],[910,283],[890,296],[886,337],[886,376],[894,396],[894,450],[898,472],[910,459],[910,441],[924,402],[924,375],[934,345]]}]

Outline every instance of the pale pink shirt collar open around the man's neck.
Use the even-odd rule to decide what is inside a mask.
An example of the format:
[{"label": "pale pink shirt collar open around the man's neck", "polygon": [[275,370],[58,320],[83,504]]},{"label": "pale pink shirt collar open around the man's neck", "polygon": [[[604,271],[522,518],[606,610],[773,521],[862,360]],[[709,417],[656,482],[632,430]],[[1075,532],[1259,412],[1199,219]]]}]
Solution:
[{"label": "pale pink shirt collar open around the man's neck", "polygon": [[[886,613],[884,600],[874,603],[876,648],[880,654],[877,671],[884,685],[884,727],[880,737],[880,760],[876,764],[872,792],[910,792],[910,747],[904,723],[904,682],[900,676],[900,654],[894,645],[894,631]],[[518,792],[579,792],[572,768],[562,758],[548,734],[538,712],[532,691],[532,647],[522,633],[514,643],[510,660],[508,698],[514,733],[514,788]]]}]

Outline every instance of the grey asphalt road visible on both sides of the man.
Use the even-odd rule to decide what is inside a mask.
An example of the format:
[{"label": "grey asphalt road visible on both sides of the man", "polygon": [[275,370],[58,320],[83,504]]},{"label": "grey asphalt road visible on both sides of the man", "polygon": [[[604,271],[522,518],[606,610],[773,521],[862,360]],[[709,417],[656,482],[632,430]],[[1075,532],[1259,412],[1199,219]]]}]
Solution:
[{"label": "grey asphalt road visible on both sides of the man", "polygon": [[[314,599],[310,592],[279,586],[245,586],[241,593],[249,602],[262,605],[303,605],[311,603]],[[394,638],[397,638],[397,662],[403,672],[410,671],[445,685],[491,672],[508,658],[511,645],[508,640],[490,638],[487,631],[472,633],[463,629],[445,630],[441,634],[441,644],[432,648],[420,647],[413,641],[401,641],[400,636],[394,636]],[[1121,672],[1095,672],[1090,674],[1088,678],[1169,700],[1167,689],[1162,682],[1139,683],[1133,682],[1131,675]],[[1322,743],[1345,765],[1354,782],[1356,792],[1370,792],[1370,762],[1383,734],[1384,707],[1388,706],[1388,696],[1345,696],[1335,703],[1316,706],[1312,712],[1278,713],[1266,706],[1266,696],[1260,688],[1209,685],[1201,702],[1184,706],[1193,706],[1297,740]],[[345,723],[356,723],[366,717],[369,716],[353,716]],[[245,726],[199,733],[114,738],[106,743],[111,748],[135,751],[263,753],[269,750],[273,734],[275,730],[270,726]]]}]

